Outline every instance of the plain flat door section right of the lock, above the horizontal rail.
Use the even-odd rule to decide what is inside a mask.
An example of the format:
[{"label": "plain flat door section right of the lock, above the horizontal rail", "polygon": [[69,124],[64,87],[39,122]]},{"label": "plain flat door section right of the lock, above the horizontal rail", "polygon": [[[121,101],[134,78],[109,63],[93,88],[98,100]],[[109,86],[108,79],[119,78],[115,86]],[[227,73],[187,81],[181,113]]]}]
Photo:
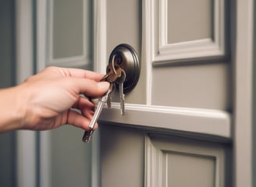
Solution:
[{"label": "plain flat door section right of the lock, above the horizontal rail", "polygon": [[152,70],[152,104],[208,108],[231,108],[231,65],[227,62],[204,65],[176,65]]}]

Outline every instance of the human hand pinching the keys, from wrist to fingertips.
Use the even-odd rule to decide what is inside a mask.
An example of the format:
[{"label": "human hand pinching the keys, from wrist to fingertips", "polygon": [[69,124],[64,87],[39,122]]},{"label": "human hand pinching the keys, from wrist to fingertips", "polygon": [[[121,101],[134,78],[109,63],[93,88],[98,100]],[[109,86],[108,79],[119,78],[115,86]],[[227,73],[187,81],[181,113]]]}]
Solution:
[{"label": "human hand pinching the keys, from wrist to fingertips", "polygon": [[98,82],[101,77],[84,69],[57,67],[30,76],[20,85],[25,111],[20,129],[47,130],[69,124],[88,130],[94,104],[86,97],[101,97],[109,86],[107,82]]}]

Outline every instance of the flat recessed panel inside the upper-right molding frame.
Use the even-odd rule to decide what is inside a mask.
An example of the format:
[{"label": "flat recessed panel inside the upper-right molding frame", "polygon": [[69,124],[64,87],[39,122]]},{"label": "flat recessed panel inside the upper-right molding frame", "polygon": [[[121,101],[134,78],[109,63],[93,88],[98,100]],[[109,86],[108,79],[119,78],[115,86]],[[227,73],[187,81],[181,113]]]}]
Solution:
[{"label": "flat recessed panel inside the upper-right molding frame", "polygon": [[212,0],[169,0],[167,4],[168,44],[213,37]]}]

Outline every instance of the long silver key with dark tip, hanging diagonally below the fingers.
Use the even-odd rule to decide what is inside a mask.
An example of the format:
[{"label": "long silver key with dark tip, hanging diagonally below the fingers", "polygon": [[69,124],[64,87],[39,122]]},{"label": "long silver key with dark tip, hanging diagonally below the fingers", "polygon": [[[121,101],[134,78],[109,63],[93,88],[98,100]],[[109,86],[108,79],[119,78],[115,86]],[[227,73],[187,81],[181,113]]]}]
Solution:
[{"label": "long silver key with dark tip, hanging diagonally below the fingers", "polygon": [[98,121],[98,118],[101,115],[102,108],[105,106],[105,104],[108,101],[109,95],[112,93],[112,87],[113,87],[113,85],[112,85],[112,83],[110,83],[108,91],[98,101],[96,111],[94,112],[94,117],[91,119],[91,122],[89,125],[89,130],[84,132],[83,141],[85,143],[89,143],[91,141],[91,136],[94,132],[94,125]]}]

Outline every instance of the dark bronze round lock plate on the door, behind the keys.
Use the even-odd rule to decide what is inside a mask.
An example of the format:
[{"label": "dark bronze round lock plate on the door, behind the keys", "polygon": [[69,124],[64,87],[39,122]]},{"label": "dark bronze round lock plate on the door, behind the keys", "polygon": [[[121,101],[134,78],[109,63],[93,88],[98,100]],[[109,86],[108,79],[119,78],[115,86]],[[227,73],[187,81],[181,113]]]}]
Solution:
[{"label": "dark bronze round lock plate on the door, behind the keys", "polygon": [[[126,72],[123,83],[123,93],[126,94],[133,90],[140,78],[140,62],[137,53],[129,44],[119,44],[110,54],[108,63],[112,63],[112,60]],[[119,85],[116,84],[116,86]]]}]

